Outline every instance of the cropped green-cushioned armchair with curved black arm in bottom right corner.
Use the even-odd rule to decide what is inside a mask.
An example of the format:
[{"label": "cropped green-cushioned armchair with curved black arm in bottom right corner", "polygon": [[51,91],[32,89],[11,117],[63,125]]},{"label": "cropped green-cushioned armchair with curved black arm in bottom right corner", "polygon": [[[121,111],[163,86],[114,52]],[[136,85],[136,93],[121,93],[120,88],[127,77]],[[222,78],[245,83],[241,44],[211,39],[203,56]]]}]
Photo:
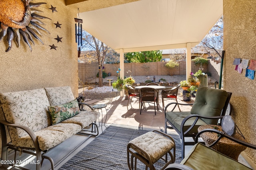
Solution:
[{"label": "cropped green-cushioned armchair with curved black arm in bottom right corner", "polygon": [[[201,143],[197,143],[200,135],[205,132],[211,132],[219,135],[219,138],[209,147],[202,145]],[[190,152],[185,156],[180,164],[170,164],[164,170],[251,170],[251,168],[241,164],[240,162],[211,149],[213,146],[218,145],[221,138],[227,138],[245,147],[256,149],[256,145],[236,139],[222,131],[218,131],[216,129],[205,129],[196,135],[195,143],[197,144],[192,147]]]}]

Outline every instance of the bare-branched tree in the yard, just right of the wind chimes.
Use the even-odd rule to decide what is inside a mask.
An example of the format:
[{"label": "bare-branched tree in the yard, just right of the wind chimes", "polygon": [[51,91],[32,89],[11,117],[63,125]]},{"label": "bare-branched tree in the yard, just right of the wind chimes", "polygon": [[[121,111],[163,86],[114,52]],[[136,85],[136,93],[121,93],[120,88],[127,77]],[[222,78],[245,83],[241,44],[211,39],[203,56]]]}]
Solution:
[{"label": "bare-branched tree in the yard, just right of the wind chimes", "polygon": [[90,35],[88,32],[83,31],[83,44],[81,51],[82,58],[86,60],[88,63],[93,61],[98,61],[99,65],[99,87],[103,86],[102,81],[102,68],[104,65],[104,61],[106,58],[106,54],[109,50],[109,47],[96,39],[94,36]]}]

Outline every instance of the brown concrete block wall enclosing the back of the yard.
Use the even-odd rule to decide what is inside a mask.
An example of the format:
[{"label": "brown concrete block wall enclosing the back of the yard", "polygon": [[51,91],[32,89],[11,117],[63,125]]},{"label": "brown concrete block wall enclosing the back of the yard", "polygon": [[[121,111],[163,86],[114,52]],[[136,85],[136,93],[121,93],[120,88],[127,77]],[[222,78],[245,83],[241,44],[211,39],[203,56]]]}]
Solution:
[{"label": "brown concrete block wall enclosing the back of the yard", "polygon": [[[169,70],[166,68],[165,64],[167,62],[155,62],[155,63],[124,63],[124,76],[146,76],[147,70],[144,65],[149,66],[148,75],[169,75]],[[184,75],[186,74],[186,61],[179,61],[180,66],[174,68],[174,75]],[[117,76],[116,71],[118,70],[120,64],[104,64],[104,71],[108,74],[110,72],[111,76]],[[193,73],[199,70],[200,65],[195,65],[192,61],[191,71]],[[213,61],[209,61],[209,64],[203,65],[203,72],[210,72],[212,76],[218,80],[220,78],[220,64]],[[128,72],[130,70],[131,72]],[[93,78],[96,78],[98,73],[98,63],[86,64],[78,63],[78,77],[82,82],[88,82]]]}]

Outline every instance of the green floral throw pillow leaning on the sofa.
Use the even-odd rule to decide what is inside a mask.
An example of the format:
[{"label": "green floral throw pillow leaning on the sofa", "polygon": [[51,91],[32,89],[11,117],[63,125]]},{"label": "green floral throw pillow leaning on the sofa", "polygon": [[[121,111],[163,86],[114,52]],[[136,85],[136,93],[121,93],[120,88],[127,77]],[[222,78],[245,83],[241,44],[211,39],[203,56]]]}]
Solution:
[{"label": "green floral throw pillow leaning on the sofa", "polygon": [[48,106],[48,109],[52,117],[52,125],[56,125],[57,123],[60,123],[61,121],[80,113],[80,109],[76,99],[66,104]]}]

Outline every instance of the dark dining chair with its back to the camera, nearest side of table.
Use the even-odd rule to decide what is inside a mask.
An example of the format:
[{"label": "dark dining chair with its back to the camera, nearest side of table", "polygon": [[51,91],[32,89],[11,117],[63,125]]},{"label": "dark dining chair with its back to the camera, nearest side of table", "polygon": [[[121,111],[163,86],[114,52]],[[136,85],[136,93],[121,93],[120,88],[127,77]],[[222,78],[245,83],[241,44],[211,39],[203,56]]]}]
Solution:
[{"label": "dark dining chair with its back to the camera, nearest side of table", "polygon": [[[158,90],[154,88],[141,88],[140,92],[140,114],[142,110],[142,106],[145,102],[151,103],[154,102],[154,109],[156,115],[156,107],[158,110]],[[145,106],[144,106],[145,107]]]}]

